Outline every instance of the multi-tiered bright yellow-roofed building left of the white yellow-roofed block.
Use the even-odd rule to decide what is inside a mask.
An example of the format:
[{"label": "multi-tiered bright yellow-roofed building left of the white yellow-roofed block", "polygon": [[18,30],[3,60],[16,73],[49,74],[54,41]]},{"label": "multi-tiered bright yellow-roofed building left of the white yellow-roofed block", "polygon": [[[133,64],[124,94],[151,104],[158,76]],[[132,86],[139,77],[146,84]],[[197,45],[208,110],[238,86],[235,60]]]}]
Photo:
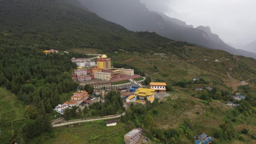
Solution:
[{"label": "multi-tiered bright yellow-roofed building left of the white yellow-roofed block", "polygon": [[155,100],[155,90],[154,89],[146,89],[146,88],[138,88],[136,92],[134,92],[134,96],[139,99],[147,98],[151,103]]}]

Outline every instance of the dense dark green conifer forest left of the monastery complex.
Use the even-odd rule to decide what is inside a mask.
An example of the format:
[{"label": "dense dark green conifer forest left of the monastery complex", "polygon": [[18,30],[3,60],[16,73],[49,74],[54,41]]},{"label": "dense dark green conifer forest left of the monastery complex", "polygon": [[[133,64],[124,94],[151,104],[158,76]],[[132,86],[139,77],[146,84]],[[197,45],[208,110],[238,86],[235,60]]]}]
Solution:
[{"label": "dense dark green conifer forest left of the monastery complex", "polygon": [[[26,46],[0,50],[0,86],[28,105],[24,113],[29,120],[18,137],[26,142],[42,132],[51,131],[47,114],[58,105],[60,94],[78,86],[70,74],[72,54],[45,55],[42,50]],[[9,120],[11,117],[6,119]]]}]

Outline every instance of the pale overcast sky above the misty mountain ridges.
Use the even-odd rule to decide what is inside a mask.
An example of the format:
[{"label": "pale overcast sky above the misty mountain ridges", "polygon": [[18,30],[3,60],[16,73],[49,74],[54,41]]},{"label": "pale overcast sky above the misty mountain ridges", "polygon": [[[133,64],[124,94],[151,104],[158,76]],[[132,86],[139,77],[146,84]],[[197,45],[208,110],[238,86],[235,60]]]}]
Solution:
[{"label": "pale overcast sky above the misty mountain ridges", "polygon": [[210,26],[226,43],[256,40],[256,0],[140,0],[152,11],[192,24]]}]

